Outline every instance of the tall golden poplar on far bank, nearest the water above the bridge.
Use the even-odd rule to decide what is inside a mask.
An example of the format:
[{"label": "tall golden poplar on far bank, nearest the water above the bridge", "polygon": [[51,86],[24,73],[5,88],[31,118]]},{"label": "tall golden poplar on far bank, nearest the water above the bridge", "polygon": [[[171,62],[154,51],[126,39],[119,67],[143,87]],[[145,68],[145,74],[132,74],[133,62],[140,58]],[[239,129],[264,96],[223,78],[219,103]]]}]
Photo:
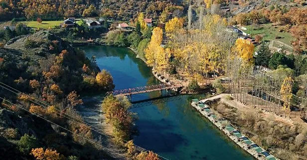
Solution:
[{"label": "tall golden poplar on far bank, nearest the water above the bridge", "polygon": [[149,66],[156,66],[156,56],[163,54],[164,49],[160,46],[163,39],[163,31],[159,27],[153,29],[151,42],[145,50],[145,58]]}]

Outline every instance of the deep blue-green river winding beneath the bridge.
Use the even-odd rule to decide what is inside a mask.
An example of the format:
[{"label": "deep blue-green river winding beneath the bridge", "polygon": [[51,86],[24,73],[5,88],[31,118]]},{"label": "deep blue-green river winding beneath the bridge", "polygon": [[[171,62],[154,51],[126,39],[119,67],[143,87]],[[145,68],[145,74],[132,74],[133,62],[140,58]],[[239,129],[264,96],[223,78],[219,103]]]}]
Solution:
[{"label": "deep blue-green river winding beneath the bridge", "polygon": [[[111,72],[115,89],[159,83],[151,68],[136,58],[127,48],[109,46],[82,46],[87,57],[96,56],[100,69]],[[132,96],[133,101],[158,97],[158,92]],[[198,95],[199,97],[200,95]],[[197,96],[196,96],[197,97]],[[100,96],[84,97],[79,109],[86,121],[99,125]],[[158,104],[134,104],[138,114],[134,136],[136,145],[151,150],[169,160],[254,160],[223,135],[210,121],[203,118],[191,105],[195,96],[177,96],[162,99]],[[92,101],[92,100],[96,101]]]}]

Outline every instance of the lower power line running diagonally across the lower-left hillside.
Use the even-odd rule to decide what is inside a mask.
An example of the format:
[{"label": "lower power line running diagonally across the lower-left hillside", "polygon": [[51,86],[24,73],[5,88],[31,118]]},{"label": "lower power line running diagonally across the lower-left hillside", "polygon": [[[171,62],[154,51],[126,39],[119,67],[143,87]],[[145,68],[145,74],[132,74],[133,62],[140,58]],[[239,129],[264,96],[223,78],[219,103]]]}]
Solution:
[{"label": "lower power line running diagonally across the lower-left hillside", "polygon": [[99,144],[99,143],[97,143],[97,142],[95,142],[95,141],[93,141],[93,140],[90,140],[90,139],[88,139],[88,138],[86,138],[86,137],[83,137],[83,136],[81,136],[81,135],[79,135],[79,134],[76,134],[76,133],[74,133],[74,132],[72,132],[72,131],[70,131],[70,130],[68,130],[68,129],[66,129],[66,128],[64,128],[64,127],[62,127],[62,126],[60,126],[60,125],[58,125],[58,124],[55,124],[54,122],[51,122],[51,121],[49,121],[49,120],[43,118],[42,116],[39,116],[38,114],[32,113],[32,112],[30,112],[30,111],[24,109],[23,107],[20,107],[20,106],[14,104],[14,103],[12,103],[12,102],[10,102],[10,101],[8,101],[8,100],[5,100],[5,99],[2,98],[2,97],[0,97],[0,99],[2,99],[3,101],[6,101],[6,102],[8,102],[8,103],[10,103],[10,104],[12,104],[12,105],[18,107],[18,108],[20,108],[20,109],[22,109],[22,110],[24,110],[24,111],[27,111],[27,112],[29,112],[30,114],[33,114],[33,115],[35,115],[35,116],[37,116],[37,117],[39,117],[39,118],[41,118],[41,119],[43,119],[43,120],[45,120],[45,121],[47,121],[47,122],[53,124],[53,125],[56,125],[56,126],[58,126],[58,127],[62,128],[62,129],[64,129],[64,130],[66,130],[66,131],[68,131],[68,132],[70,132],[70,133],[72,133],[72,134],[74,134],[74,135],[77,135],[77,136],[79,136],[79,137],[81,137],[81,138],[83,138],[83,139],[85,139],[85,140],[87,140],[87,141],[89,141],[89,142],[91,142],[91,143],[93,143],[93,144],[96,144],[96,145],[98,145],[98,146],[100,146],[100,147],[102,147],[102,148],[104,148],[104,149],[106,149],[106,150],[108,150],[108,151],[111,151],[111,152],[113,152],[113,153],[116,153],[116,154],[118,154],[118,155],[124,157],[124,158],[127,158],[127,159],[129,159],[129,160],[132,160],[132,159],[130,159],[130,158],[128,158],[128,157],[126,157],[126,156],[124,156],[124,155],[122,155],[122,154],[119,154],[119,153],[117,153],[117,152],[115,152],[115,151],[113,151],[113,150],[111,150],[111,149],[109,149],[109,148],[107,148],[107,147],[102,146],[101,144]]}]

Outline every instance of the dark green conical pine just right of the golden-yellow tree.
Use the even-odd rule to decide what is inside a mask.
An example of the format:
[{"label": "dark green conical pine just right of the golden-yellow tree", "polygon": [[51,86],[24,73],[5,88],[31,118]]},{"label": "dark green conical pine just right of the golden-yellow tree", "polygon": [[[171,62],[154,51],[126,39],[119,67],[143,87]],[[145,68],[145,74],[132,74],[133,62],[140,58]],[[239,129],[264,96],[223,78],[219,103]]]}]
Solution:
[{"label": "dark green conical pine just right of the golden-yellow tree", "polygon": [[262,43],[259,50],[258,55],[255,58],[255,64],[259,66],[269,66],[271,50],[269,46],[265,43]]}]

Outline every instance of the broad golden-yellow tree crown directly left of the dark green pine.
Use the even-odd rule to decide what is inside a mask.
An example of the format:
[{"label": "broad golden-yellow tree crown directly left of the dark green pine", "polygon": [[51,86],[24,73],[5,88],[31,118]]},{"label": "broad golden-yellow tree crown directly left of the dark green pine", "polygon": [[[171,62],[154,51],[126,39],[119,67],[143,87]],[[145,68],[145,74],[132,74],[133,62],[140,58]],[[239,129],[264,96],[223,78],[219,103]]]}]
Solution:
[{"label": "broad golden-yellow tree crown directly left of the dark green pine", "polygon": [[255,52],[255,46],[248,40],[238,38],[236,40],[234,51],[235,54],[242,59],[243,64],[253,63],[253,54]]}]

